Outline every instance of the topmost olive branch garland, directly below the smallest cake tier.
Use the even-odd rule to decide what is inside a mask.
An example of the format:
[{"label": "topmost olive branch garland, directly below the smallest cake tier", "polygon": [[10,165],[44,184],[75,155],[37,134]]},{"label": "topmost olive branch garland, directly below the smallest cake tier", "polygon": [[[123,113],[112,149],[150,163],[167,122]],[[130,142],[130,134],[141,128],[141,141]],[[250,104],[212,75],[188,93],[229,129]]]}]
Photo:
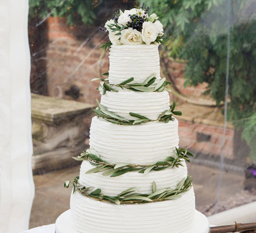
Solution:
[{"label": "topmost olive branch garland, directly below the smallest cake tier", "polygon": [[[108,76],[109,73],[105,73],[103,75]],[[108,78],[107,79],[95,78],[95,79],[92,79],[91,81],[100,80],[99,87],[96,89],[99,92],[102,91],[102,95],[105,95],[107,91],[118,92],[118,90],[113,87],[119,87],[123,90],[124,88],[126,88],[135,92],[162,92],[165,90],[170,91],[169,89],[166,89],[166,86],[170,85],[171,82],[166,81],[165,78],[160,79],[155,87],[150,87],[156,81],[155,76],[156,74],[150,75],[143,83],[131,83],[134,80],[133,77],[121,82],[120,84],[110,84]]]}]

